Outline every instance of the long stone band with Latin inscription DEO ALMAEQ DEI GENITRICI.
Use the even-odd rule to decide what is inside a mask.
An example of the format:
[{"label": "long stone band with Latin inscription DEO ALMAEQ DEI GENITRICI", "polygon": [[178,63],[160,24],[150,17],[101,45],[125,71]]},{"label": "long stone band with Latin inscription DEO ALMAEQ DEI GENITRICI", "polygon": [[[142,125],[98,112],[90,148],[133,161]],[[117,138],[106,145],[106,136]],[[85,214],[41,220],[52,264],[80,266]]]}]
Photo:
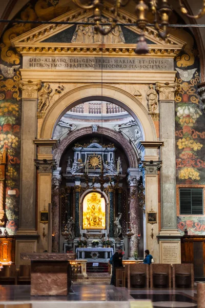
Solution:
[{"label": "long stone band with Latin inscription DEO ALMAEQ DEI GENITRICI", "polygon": [[154,57],[24,56],[25,69],[173,71],[174,60]]}]

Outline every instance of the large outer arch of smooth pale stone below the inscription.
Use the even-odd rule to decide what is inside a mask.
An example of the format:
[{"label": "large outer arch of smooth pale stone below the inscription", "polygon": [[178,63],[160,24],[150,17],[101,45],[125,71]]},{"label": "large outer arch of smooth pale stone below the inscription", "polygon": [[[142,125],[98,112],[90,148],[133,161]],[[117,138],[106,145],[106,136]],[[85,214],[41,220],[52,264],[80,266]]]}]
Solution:
[{"label": "large outer arch of smooth pale stone below the inscription", "polygon": [[[105,95],[102,95],[103,93]],[[66,111],[79,103],[88,100],[106,100],[127,110],[134,119],[138,120],[145,141],[156,141],[156,130],[151,115],[146,108],[130,93],[114,86],[104,84],[89,84],[77,87],[60,97],[45,115],[39,131],[40,139],[51,139],[55,125]]]}]

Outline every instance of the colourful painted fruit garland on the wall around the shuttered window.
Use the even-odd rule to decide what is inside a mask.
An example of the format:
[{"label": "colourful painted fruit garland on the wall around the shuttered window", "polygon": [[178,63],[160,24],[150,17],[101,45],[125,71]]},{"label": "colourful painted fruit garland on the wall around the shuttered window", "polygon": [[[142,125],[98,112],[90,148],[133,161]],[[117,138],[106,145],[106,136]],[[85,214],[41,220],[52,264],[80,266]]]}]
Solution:
[{"label": "colourful painted fruit garland on the wall around the shuttered window", "polygon": [[[193,49],[190,50],[194,54]],[[176,182],[185,187],[205,185],[205,131],[204,113],[199,106],[197,84],[200,82],[199,61],[195,56],[176,57],[176,81],[180,88],[175,96]],[[204,186],[205,187],[205,186]],[[177,227],[181,234],[185,228],[189,235],[205,235],[204,216],[178,216]]]}]

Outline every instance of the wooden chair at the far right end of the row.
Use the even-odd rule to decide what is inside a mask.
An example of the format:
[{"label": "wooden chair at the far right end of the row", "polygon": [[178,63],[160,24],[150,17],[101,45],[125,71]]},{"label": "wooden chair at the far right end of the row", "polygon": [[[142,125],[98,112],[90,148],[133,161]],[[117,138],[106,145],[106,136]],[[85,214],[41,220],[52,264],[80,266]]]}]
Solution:
[{"label": "wooden chair at the far right end of the row", "polygon": [[194,264],[182,263],[173,264],[173,288],[191,287],[194,288]]}]

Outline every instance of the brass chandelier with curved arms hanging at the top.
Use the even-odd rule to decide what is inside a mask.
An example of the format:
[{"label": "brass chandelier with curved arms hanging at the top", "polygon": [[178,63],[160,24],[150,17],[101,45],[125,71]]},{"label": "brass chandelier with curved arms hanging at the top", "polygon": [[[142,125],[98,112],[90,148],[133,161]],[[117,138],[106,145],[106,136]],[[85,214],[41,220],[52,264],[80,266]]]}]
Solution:
[{"label": "brass chandelier with curved arms hanging at the top", "polygon": [[[100,24],[101,22],[101,14],[104,9],[103,0],[91,0],[88,5],[84,5],[80,2],[80,0],[73,0],[73,2],[82,9],[93,9],[94,14],[94,31],[96,33],[100,33],[102,35],[107,35],[113,31],[113,29],[117,25],[117,17],[119,15],[120,7],[124,7],[129,3],[129,0],[114,0],[115,4],[110,9],[113,14],[112,23],[109,27],[103,28]],[[154,16],[154,27],[157,30],[159,36],[162,39],[165,39],[168,36],[168,26],[169,26],[169,17],[172,12],[172,7],[170,5],[171,0],[161,0],[160,5],[158,5],[157,0],[139,0],[137,1],[135,12],[136,12],[136,26],[141,30],[141,34],[137,39],[137,47],[135,49],[135,53],[137,54],[145,54],[149,52],[146,38],[144,35],[144,30],[148,25],[147,15],[151,12]],[[190,15],[185,5],[182,4],[182,1],[179,0],[180,11],[182,14],[191,18],[200,18],[205,13],[205,0],[203,0],[202,8],[199,10],[197,15]]]}]

